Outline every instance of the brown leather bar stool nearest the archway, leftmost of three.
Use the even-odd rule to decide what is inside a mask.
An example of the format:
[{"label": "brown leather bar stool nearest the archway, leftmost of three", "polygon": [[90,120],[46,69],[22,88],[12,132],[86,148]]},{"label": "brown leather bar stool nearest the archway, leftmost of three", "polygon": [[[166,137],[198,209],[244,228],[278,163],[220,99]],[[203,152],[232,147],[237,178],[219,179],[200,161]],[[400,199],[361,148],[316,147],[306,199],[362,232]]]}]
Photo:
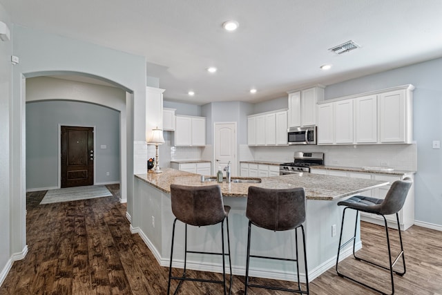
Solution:
[{"label": "brown leather bar stool nearest the archway, leftmost of three", "polygon": [[[205,283],[222,283],[224,285],[224,294],[227,294],[226,289],[226,270],[225,270],[225,256],[229,256],[230,267],[230,285],[229,294],[231,292],[232,285],[232,267],[230,259],[230,239],[229,239],[229,206],[224,206],[222,202],[222,193],[220,186],[210,185],[203,187],[189,187],[178,184],[171,184],[171,202],[172,212],[175,215],[173,220],[172,230],[172,245],[171,245],[171,263],[169,267],[169,283],[167,286],[167,294],[171,289],[171,280],[180,280],[175,292],[176,294],[180,288],[183,280],[191,280]],[[172,276],[172,258],[173,258],[173,241],[175,238],[175,224],[180,220],[185,225],[184,232],[184,271],[182,276]],[[227,222],[227,247],[229,252],[226,254],[224,251],[224,220]],[[221,224],[221,245],[222,253],[204,252],[204,251],[189,251],[187,249],[187,225],[193,225],[195,227],[204,227],[206,225]],[[211,254],[222,256],[222,280],[206,280],[202,278],[187,278],[186,277],[186,260],[187,254]]]}]

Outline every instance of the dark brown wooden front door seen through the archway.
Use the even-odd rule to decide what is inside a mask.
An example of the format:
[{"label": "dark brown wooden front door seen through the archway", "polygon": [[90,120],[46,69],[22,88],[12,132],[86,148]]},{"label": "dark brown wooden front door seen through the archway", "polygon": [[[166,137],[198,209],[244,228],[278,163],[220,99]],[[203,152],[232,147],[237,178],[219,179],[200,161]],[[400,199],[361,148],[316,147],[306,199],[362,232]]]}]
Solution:
[{"label": "dark brown wooden front door seen through the archway", "polygon": [[94,184],[93,130],[61,126],[61,187]]}]

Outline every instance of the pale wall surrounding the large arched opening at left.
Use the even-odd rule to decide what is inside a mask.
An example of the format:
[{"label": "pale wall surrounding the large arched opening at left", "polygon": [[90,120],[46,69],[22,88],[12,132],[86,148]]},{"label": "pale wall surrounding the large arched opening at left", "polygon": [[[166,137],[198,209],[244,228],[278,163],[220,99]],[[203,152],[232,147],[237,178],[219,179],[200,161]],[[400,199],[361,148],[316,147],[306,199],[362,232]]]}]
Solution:
[{"label": "pale wall surrounding the large arched opening at left", "polygon": [[[40,30],[13,26],[13,54],[20,64],[12,70],[12,120],[10,126],[11,168],[11,237],[12,253],[26,247],[26,132],[25,132],[25,87],[23,77],[37,77],[57,73],[75,73],[101,77],[113,82],[128,95],[128,159],[127,211],[131,214],[137,207],[137,196],[133,196],[134,149],[133,142],[144,142],[146,136],[146,60],[144,57],[122,53],[94,44],[52,35]],[[127,97],[127,96],[126,96]],[[147,102],[149,103],[149,102]],[[131,162],[131,163],[129,163]],[[144,162],[146,171],[146,162]],[[143,171],[143,172],[144,172]]]}]

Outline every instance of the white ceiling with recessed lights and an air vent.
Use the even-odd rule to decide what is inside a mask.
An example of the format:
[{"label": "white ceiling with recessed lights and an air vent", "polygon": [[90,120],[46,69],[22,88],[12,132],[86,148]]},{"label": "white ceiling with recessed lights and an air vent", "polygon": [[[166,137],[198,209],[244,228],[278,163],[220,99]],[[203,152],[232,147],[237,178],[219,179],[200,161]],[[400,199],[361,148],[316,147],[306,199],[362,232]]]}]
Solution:
[{"label": "white ceiling with recessed lights and an air vent", "polygon": [[[441,0],[0,3],[14,23],[145,56],[165,99],[194,104],[261,102],[442,57]],[[222,28],[229,19],[240,23],[236,32]],[[361,48],[329,52],[349,40]],[[333,67],[325,72],[323,64]],[[209,66],[218,72],[207,73]]]}]

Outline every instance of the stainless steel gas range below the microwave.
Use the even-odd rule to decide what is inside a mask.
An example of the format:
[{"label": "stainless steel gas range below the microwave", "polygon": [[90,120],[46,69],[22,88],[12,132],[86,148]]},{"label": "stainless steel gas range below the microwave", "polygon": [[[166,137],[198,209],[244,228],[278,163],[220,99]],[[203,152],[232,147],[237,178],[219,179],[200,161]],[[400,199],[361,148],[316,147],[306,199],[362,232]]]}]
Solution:
[{"label": "stainless steel gas range below the microwave", "polygon": [[303,153],[296,151],[294,162],[279,165],[279,175],[310,172],[311,166],[324,164],[324,153]]}]

